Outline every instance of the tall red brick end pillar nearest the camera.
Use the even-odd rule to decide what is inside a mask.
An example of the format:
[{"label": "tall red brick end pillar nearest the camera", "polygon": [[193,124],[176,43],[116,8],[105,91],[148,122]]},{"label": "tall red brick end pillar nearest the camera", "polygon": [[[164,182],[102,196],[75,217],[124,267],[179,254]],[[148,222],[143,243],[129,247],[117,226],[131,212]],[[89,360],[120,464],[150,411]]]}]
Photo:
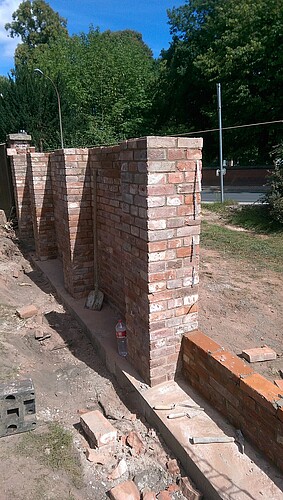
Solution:
[{"label": "tall red brick end pillar nearest the camera", "polygon": [[122,155],[129,358],[147,383],[172,379],[198,326],[202,139],[147,137]]}]

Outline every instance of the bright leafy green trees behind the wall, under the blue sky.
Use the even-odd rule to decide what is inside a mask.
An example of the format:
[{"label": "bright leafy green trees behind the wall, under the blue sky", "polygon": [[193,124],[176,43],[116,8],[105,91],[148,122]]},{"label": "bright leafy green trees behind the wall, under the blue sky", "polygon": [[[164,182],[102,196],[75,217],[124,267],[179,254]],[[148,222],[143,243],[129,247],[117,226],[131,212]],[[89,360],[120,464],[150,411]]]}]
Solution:
[{"label": "bright leafy green trees behind the wall, under the blue sky", "polygon": [[[23,43],[16,51],[15,69],[5,91],[5,105],[13,120],[4,123],[3,118],[0,137],[7,130],[24,129],[40,149],[60,145],[56,93],[50,80],[34,73],[35,68],[58,89],[67,147],[144,135],[154,61],[141,35],[130,30],[101,33],[91,27],[87,34],[69,37],[64,20],[49,6],[41,11],[41,4],[39,0],[32,5],[23,2],[13,14],[16,21],[7,26]],[[43,10],[50,27],[47,31],[41,30]]]}]

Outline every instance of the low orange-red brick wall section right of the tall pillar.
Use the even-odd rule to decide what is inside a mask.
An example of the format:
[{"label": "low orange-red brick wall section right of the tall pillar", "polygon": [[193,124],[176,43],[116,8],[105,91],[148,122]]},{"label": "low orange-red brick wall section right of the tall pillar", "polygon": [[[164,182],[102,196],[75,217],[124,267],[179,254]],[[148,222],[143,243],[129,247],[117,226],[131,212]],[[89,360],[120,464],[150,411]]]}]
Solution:
[{"label": "low orange-red brick wall section right of the tall pillar", "polygon": [[190,384],[283,470],[280,389],[202,332],[185,335],[182,352]]}]

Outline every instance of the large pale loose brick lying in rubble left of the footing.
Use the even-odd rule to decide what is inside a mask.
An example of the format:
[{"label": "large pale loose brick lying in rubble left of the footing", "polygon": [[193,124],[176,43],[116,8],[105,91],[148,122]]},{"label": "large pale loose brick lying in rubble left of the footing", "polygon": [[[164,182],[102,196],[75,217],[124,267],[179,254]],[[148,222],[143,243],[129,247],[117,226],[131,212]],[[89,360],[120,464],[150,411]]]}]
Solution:
[{"label": "large pale loose brick lying in rubble left of the footing", "polygon": [[91,444],[101,448],[117,441],[117,430],[98,410],[84,413],[80,417],[81,426]]}]

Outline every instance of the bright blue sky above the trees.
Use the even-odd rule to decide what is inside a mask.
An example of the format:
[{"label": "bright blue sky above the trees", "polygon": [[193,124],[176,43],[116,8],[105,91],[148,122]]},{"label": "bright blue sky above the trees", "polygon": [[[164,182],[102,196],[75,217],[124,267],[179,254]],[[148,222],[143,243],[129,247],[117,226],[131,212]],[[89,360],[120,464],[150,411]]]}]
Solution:
[{"label": "bright blue sky above the trees", "polygon": [[[7,36],[5,24],[21,2],[0,0],[0,75],[7,76],[19,38]],[[154,57],[170,42],[167,9],[184,5],[185,0],[50,0],[49,5],[68,21],[70,35],[88,32],[90,24],[101,31],[132,29],[142,34]]]}]

